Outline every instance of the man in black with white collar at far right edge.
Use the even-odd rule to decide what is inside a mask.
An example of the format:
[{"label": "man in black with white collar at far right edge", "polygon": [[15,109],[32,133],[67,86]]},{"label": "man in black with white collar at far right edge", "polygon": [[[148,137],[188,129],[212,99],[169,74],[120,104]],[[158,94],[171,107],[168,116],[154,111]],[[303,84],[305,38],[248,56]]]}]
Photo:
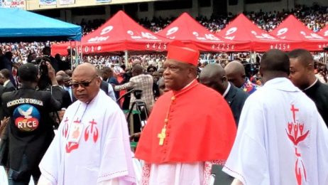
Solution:
[{"label": "man in black with white collar at far right edge", "polygon": [[290,80],[312,101],[328,127],[328,86],[315,77],[315,60],[309,51],[296,49],[288,53],[290,57]]}]

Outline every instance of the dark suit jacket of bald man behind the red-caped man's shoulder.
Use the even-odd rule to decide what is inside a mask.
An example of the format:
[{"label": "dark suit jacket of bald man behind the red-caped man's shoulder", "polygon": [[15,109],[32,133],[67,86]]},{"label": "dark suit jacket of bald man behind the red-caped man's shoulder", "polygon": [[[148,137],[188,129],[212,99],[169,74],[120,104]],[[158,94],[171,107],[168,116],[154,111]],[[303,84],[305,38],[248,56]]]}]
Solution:
[{"label": "dark suit jacket of bald man behind the red-caped man's shoulder", "polygon": [[239,117],[241,115],[241,110],[244,107],[244,103],[248,97],[248,93],[245,93],[244,90],[236,88],[232,83],[230,83],[230,89],[224,99],[228,102],[232,114],[234,115],[234,120],[238,126]]}]

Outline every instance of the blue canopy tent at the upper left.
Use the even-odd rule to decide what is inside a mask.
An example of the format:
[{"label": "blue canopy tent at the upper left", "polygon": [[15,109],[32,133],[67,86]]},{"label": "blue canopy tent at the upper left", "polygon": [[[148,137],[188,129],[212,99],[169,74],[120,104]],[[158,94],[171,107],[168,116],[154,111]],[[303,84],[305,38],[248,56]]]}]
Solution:
[{"label": "blue canopy tent at the upper left", "polygon": [[80,41],[81,26],[21,9],[0,8],[0,42]]}]

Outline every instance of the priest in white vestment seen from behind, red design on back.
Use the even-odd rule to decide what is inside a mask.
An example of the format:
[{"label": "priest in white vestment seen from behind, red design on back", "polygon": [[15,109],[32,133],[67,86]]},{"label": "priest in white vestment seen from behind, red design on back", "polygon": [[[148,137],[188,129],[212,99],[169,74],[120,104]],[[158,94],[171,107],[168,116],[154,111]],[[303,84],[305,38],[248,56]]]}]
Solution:
[{"label": "priest in white vestment seen from behind, red design on back", "polygon": [[328,129],[288,80],[288,56],[268,51],[260,72],[265,85],[245,102],[223,171],[244,185],[328,184]]}]

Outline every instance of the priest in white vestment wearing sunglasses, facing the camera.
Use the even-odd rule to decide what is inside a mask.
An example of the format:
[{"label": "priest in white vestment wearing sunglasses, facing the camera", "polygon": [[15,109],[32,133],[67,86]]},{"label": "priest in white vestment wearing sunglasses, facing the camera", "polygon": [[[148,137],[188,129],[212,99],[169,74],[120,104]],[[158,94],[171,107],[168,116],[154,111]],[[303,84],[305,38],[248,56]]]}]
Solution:
[{"label": "priest in white vestment wearing sunglasses, facing the camera", "polygon": [[40,162],[39,184],[135,184],[129,132],[123,112],[102,90],[93,65],[77,66],[58,134]]}]

